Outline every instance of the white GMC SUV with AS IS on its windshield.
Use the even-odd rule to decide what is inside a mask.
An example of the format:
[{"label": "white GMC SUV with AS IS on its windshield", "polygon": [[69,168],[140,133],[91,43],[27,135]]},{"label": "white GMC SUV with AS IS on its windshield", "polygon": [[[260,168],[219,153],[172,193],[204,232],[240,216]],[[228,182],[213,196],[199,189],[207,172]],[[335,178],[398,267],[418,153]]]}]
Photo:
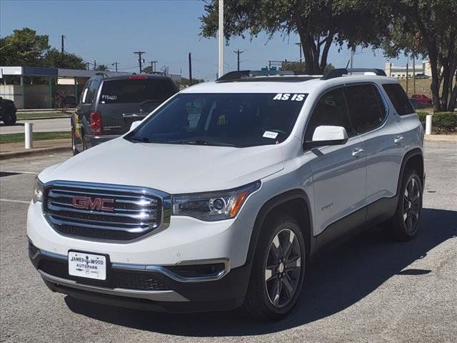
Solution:
[{"label": "white GMC SUV with AS IS on its windshield", "polygon": [[29,256],[78,299],[279,319],[318,249],[382,222],[412,239],[424,181],[421,123],[383,71],[231,72],[41,172]]}]

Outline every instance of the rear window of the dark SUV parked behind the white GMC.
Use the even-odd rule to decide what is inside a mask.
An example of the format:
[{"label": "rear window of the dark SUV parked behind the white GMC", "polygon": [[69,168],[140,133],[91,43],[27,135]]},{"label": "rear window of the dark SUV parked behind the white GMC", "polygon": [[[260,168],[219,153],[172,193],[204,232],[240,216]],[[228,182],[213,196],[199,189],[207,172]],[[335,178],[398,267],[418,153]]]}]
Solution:
[{"label": "rear window of the dark SUV parked behind the white GMC", "polygon": [[163,102],[176,93],[167,79],[105,80],[101,89],[101,104]]}]

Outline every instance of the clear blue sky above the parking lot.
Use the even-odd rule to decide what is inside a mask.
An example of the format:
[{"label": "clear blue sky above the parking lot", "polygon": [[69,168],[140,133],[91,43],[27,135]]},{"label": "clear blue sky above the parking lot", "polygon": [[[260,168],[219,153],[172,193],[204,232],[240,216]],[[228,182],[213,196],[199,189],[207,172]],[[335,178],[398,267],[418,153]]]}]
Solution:
[{"label": "clear blue sky above the parking lot", "polygon": [[[189,76],[188,54],[192,54],[194,79],[214,80],[217,73],[217,39],[201,37],[199,17],[204,14],[201,0],[155,1],[0,1],[0,36],[14,29],[29,27],[37,34],[49,35],[49,44],[60,49],[61,35],[65,50],[85,61],[110,68],[119,62],[119,71],[138,71],[134,51],[146,51],[146,66],[158,61],[157,70],[169,66],[171,74]],[[259,70],[268,60],[298,60],[298,36],[276,34],[268,40],[234,38],[224,46],[224,72],[236,70],[236,49],[241,54],[240,69]],[[357,49],[355,67],[384,69],[382,51]],[[350,59],[348,49],[332,46],[328,63],[345,67]],[[406,59],[391,60],[406,64]]]}]

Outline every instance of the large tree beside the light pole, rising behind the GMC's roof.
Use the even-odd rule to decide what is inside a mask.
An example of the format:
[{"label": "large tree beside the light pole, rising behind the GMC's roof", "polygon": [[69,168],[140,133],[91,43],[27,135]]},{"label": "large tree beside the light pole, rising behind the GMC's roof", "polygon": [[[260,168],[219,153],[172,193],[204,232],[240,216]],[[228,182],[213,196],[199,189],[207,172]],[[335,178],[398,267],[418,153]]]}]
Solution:
[{"label": "large tree beside the light pole, rising behind the GMC's roof", "polygon": [[[346,0],[238,0],[224,4],[224,35],[245,38],[246,32],[257,36],[266,31],[283,36],[298,34],[305,57],[306,74],[323,74],[328,51],[333,42],[356,46],[376,41],[383,21],[368,4]],[[370,2],[370,1],[366,1]],[[201,35],[215,37],[218,30],[219,1],[211,0],[204,7],[200,20]],[[357,6],[357,10],[353,7]],[[373,15],[376,14],[376,15]],[[369,18],[369,20],[367,20]]]}]

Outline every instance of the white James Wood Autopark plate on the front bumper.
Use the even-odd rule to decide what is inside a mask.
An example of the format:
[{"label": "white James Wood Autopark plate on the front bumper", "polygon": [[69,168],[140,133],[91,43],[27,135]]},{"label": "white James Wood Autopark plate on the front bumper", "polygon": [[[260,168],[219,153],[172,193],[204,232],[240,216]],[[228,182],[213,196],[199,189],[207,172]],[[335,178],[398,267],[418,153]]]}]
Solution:
[{"label": "white James Wood Autopark plate on the front bumper", "polygon": [[69,274],[74,277],[106,280],[106,257],[86,252],[69,252]]}]

